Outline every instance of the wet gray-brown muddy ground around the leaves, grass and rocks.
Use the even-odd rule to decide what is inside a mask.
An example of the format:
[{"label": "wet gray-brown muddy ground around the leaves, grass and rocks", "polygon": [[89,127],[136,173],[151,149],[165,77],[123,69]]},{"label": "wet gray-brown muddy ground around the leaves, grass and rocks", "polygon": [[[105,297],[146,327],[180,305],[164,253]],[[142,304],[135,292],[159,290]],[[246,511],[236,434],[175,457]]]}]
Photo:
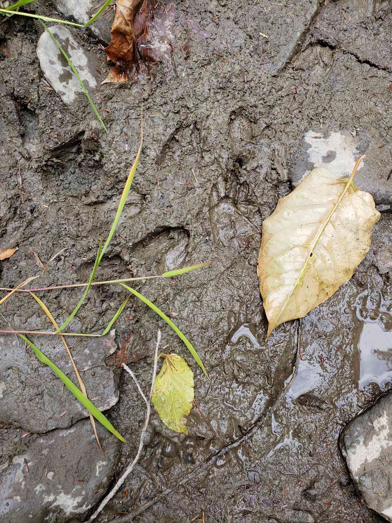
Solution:
[{"label": "wet gray-brown muddy ground around the leaves, grass and rocks", "polygon": [[[338,438],[350,419],[391,389],[392,14],[366,0],[277,3],[287,5],[199,0],[159,6],[170,18],[170,52],[139,81],[100,87],[95,101],[108,134],[85,98],[67,108],[45,87],[36,55],[39,22],[15,16],[0,25],[0,246],[19,248],[1,262],[2,286],[40,274],[31,252],[45,263],[64,247],[39,286],[86,280],[139,146],[142,99],[141,161],[97,279],[215,260],[172,282],[147,281],[141,290],[165,312],[178,313],[174,321],[211,382],[171,329],[136,299],[116,324],[121,355],[101,357],[105,380],[118,387],[118,401],[109,391],[116,396],[110,405],[117,403],[106,414],[129,441],[116,456],[114,478],[134,456],[144,421],[144,402],[116,364],[123,357],[146,391],[158,327],[163,342],[192,366],[207,423],[193,410],[189,436],[178,436],[154,413],[142,459],[100,521],[116,514],[121,521],[137,515],[135,521],[179,523],[201,520],[202,510],[207,523],[381,520],[356,493]],[[39,4],[30,12],[56,15],[50,3]],[[97,39],[71,31],[97,56],[105,78],[109,66]],[[364,148],[372,140],[384,145],[374,147],[368,174],[382,217],[353,278],[265,343],[256,276],[260,235],[246,237],[261,230],[293,189],[309,130],[353,133]],[[59,322],[79,295],[70,289],[40,294]],[[125,297],[119,286],[91,289],[71,328],[101,332]],[[9,299],[0,312],[2,328],[50,328],[27,295]],[[57,365],[68,366],[59,340],[32,339]],[[285,393],[297,343],[298,376]],[[77,359],[86,342],[70,338],[70,345]],[[13,372],[15,389],[7,396],[10,414],[1,419],[2,463],[36,434],[85,416],[72,411],[71,396],[64,404],[55,400],[50,372],[21,341],[18,349],[27,363],[18,367],[15,356],[4,371]],[[53,401],[59,406],[50,411]],[[22,406],[19,414],[13,405]],[[25,431],[30,434],[21,438]]]}]

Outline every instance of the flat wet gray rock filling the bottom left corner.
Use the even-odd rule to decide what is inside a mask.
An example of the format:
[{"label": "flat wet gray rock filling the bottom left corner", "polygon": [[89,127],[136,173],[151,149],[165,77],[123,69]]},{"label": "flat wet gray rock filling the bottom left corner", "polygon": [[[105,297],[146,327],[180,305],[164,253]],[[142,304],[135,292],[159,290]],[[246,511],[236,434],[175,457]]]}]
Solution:
[{"label": "flat wet gray rock filling the bottom left corner", "polygon": [[105,494],[121,442],[90,421],[37,436],[25,453],[0,466],[0,519],[7,523],[65,523],[83,519]]}]

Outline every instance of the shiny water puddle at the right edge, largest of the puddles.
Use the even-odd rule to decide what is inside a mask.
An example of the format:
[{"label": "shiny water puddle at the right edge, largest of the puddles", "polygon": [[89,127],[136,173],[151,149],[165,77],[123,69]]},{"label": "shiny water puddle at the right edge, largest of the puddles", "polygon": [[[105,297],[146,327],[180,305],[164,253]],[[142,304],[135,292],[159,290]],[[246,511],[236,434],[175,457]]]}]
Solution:
[{"label": "shiny water puddle at the right edge, largest of the puddles", "polygon": [[[359,299],[355,303],[356,316],[363,322],[358,342],[359,390],[369,383],[377,383],[384,390],[392,382],[392,329],[385,325],[391,324],[392,314],[380,306],[377,319],[366,319],[361,314]],[[386,318],[388,322],[382,321]]]}]

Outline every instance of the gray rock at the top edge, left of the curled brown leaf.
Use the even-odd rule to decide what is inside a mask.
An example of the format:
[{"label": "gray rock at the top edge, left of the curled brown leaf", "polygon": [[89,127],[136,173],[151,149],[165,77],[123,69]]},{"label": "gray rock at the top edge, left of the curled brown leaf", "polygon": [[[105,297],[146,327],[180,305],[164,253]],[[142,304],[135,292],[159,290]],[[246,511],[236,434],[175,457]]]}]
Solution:
[{"label": "gray rock at the top edge, left of the curled brown leaf", "polygon": [[[86,24],[91,16],[94,16],[98,9],[94,9],[99,2],[95,0],[52,0],[52,3],[56,6],[57,11],[63,15],[67,20],[75,21],[77,24]],[[102,42],[110,42],[110,27],[113,21],[113,13],[111,10],[108,14],[103,13],[89,25],[91,31],[96,35]]]}]

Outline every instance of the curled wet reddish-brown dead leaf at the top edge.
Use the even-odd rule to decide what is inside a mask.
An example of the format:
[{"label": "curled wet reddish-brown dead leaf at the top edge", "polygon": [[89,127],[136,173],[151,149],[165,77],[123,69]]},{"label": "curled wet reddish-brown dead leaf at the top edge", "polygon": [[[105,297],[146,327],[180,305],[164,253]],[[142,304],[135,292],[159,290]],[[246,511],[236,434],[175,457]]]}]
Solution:
[{"label": "curled wet reddish-brown dead leaf at the top edge", "polygon": [[136,47],[147,39],[152,18],[149,0],[117,0],[111,41],[105,48],[108,60],[116,66],[102,83],[125,82],[131,78],[138,54],[145,54],[138,52]]}]

